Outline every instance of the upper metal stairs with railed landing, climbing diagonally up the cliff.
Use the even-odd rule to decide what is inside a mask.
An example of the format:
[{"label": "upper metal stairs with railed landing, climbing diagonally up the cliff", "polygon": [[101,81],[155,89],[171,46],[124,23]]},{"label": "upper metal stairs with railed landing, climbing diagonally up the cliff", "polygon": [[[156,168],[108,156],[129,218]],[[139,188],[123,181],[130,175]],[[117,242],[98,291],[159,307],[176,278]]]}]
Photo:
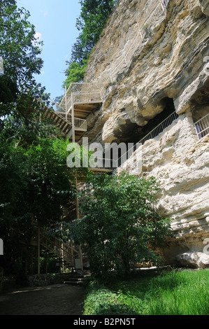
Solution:
[{"label": "upper metal stairs with railed landing, climbing diagonally up the cliff", "polygon": [[139,45],[143,43],[145,38],[144,27],[152,25],[152,23],[166,14],[166,6],[168,0],[153,0],[149,13],[138,23],[138,31],[136,37],[131,44],[127,44],[122,55],[113,62],[109,70],[104,72],[103,83],[71,83],[65,90],[64,97],[59,104],[52,102],[54,109],[45,111],[45,118],[50,118],[59,130],[62,131],[64,137],[71,141],[79,141],[84,132],[87,132],[87,116],[99,109],[103,102],[103,96],[106,92],[107,83],[115,80],[117,73],[128,66]]}]

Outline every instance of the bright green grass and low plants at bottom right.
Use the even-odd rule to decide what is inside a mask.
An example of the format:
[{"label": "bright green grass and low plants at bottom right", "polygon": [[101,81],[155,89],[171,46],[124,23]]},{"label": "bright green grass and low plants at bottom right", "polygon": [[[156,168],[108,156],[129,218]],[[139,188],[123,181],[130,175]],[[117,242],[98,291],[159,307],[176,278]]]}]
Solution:
[{"label": "bright green grass and low plants at bottom right", "polygon": [[103,284],[90,281],[84,315],[208,315],[209,270],[164,272]]}]

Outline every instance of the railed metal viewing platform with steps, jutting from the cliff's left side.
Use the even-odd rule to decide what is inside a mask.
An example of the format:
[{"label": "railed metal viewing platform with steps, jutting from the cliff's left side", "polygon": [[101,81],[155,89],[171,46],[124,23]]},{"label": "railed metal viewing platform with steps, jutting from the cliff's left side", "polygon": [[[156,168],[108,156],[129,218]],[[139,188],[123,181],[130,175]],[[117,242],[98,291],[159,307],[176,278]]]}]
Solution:
[{"label": "railed metal viewing platform with steps, jutting from the cliff's left side", "polygon": [[60,104],[51,101],[45,118],[55,123],[59,135],[77,142],[87,132],[87,116],[99,109],[105,83],[71,83]]}]

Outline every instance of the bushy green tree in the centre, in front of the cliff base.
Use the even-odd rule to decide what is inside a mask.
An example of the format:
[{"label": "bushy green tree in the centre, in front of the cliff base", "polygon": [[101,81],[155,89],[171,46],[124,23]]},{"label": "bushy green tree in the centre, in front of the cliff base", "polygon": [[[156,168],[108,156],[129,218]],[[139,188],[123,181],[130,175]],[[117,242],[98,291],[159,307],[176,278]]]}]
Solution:
[{"label": "bushy green tree in the centre, in front of the cliff base", "polygon": [[96,175],[80,193],[82,218],[71,225],[71,238],[82,244],[92,274],[100,279],[125,275],[136,263],[157,264],[155,247],[164,246],[170,221],[154,207],[159,189],[154,178]]}]

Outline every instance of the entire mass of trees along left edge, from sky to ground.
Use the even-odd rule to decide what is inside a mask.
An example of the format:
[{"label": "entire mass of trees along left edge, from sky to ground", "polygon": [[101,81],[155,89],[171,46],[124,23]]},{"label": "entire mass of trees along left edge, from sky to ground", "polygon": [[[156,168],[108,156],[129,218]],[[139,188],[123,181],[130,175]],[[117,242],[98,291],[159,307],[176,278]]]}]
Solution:
[{"label": "entire mass of trees along left edge, from sky to ground", "polygon": [[37,225],[60,221],[75,192],[66,142],[50,140],[55,128],[42,120],[48,95],[34,79],[43,65],[42,43],[28,19],[15,0],[1,0],[0,233],[7,267],[20,257],[20,241],[29,246]]}]

